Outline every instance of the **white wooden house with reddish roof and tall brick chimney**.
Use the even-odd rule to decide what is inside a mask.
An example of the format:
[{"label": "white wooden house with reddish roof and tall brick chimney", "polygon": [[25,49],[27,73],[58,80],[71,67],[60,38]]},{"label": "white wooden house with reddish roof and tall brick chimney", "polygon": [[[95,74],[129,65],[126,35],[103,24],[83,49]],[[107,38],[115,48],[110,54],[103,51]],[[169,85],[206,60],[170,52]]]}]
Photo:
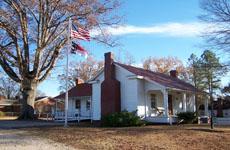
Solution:
[{"label": "white wooden house with reddish roof and tall brick chimney", "polygon": [[77,96],[84,91],[74,91],[81,84],[70,90],[75,94],[70,94],[69,112],[81,112],[93,121],[127,110],[153,123],[170,123],[179,112],[195,111],[196,89],[178,79],[176,71],[165,75],[117,63],[110,52],[105,53],[104,69],[85,84],[92,90],[85,95]]}]

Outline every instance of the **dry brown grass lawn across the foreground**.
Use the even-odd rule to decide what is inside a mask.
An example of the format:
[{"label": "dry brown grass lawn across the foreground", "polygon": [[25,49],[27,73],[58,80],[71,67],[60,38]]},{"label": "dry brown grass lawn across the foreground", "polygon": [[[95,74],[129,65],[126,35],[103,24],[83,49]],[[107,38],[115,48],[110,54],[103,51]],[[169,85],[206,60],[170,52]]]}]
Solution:
[{"label": "dry brown grass lawn across the foreground", "polygon": [[78,149],[229,149],[230,128],[146,126],[129,128],[55,127],[33,134]]}]

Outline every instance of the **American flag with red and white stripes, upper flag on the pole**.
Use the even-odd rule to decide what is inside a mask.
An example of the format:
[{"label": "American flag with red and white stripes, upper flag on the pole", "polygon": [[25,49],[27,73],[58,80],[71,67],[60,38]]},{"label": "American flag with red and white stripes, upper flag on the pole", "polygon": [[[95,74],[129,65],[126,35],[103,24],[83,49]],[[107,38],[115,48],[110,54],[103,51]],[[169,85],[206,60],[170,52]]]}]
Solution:
[{"label": "American flag with red and white stripes, upper flag on the pole", "polygon": [[90,41],[90,34],[88,30],[82,28],[76,28],[74,25],[71,29],[71,38],[81,39],[85,41]]}]

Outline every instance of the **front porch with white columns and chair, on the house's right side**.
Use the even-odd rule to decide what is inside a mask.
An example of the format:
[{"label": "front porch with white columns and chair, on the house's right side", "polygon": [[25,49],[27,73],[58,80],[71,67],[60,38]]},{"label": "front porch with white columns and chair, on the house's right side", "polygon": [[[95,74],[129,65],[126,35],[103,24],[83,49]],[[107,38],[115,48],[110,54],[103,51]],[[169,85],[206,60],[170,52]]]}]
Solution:
[{"label": "front porch with white columns and chair, on the house's right side", "polygon": [[144,120],[152,123],[172,124],[180,112],[195,112],[195,94],[176,89],[147,90]]}]

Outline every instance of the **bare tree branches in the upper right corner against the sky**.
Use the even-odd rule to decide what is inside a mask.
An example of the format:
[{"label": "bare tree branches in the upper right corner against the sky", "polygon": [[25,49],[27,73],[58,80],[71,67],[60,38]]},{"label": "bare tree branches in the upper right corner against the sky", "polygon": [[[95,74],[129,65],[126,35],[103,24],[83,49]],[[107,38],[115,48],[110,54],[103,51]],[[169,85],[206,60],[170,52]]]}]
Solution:
[{"label": "bare tree branches in the upper right corner against the sky", "polygon": [[204,31],[204,38],[209,46],[230,52],[230,1],[200,0],[204,10],[200,19],[210,27]]}]

